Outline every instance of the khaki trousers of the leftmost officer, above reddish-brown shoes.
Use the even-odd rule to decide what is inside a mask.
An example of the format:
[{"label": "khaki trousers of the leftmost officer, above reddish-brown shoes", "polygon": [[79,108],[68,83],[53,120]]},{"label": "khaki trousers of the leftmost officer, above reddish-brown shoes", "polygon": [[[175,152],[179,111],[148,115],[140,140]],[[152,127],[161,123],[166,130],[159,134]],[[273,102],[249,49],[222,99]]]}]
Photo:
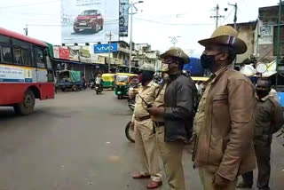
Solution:
[{"label": "khaki trousers of the leftmost officer, above reddish-brown shoes", "polygon": [[140,173],[151,175],[152,180],[162,181],[156,139],[151,119],[135,123],[135,146],[141,165]]}]

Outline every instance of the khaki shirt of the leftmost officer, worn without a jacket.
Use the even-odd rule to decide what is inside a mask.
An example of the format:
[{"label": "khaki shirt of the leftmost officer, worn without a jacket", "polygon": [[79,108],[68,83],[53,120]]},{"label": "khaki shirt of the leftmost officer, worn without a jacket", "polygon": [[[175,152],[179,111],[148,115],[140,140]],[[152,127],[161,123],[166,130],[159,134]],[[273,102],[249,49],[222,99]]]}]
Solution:
[{"label": "khaki shirt of the leftmost officer, worn without a jacket", "polygon": [[[139,118],[149,115],[149,113],[146,111],[146,103],[148,105],[154,104],[154,99],[158,89],[159,84],[154,83],[153,81],[148,83],[146,86],[138,86],[138,95],[136,95],[136,104],[133,113],[133,119],[135,119],[136,122],[139,122]],[[146,101],[146,103],[141,99],[140,96]]]}]

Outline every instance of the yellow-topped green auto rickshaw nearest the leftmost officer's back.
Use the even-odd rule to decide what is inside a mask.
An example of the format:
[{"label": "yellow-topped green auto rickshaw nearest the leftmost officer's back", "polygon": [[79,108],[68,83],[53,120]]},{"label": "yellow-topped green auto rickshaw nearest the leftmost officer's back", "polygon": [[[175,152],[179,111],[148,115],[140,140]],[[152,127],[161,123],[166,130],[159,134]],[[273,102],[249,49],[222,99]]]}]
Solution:
[{"label": "yellow-topped green auto rickshaw nearest the leftmost officer's back", "polygon": [[118,73],[115,75],[115,95],[117,96],[117,99],[128,96],[129,83],[131,78],[135,76],[138,75],[129,73]]}]

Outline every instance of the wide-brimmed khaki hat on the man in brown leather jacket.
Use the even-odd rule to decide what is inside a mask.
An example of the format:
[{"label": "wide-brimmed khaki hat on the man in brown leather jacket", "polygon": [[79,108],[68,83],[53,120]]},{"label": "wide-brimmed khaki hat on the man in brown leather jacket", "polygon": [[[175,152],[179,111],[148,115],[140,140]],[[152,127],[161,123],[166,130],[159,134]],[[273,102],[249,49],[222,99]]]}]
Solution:
[{"label": "wide-brimmed khaki hat on the man in brown leather jacket", "polygon": [[247,44],[238,37],[238,32],[230,26],[220,26],[213,35],[204,40],[198,41],[203,46],[209,45],[228,45],[231,46],[237,54],[245,53],[248,50]]}]

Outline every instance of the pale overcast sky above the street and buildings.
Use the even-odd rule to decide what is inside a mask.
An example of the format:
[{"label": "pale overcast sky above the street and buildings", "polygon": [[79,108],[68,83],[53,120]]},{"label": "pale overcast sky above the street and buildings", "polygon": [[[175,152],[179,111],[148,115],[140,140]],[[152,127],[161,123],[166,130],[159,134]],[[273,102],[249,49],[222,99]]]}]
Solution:
[{"label": "pale overcast sky above the street and buildings", "polygon": [[[107,0],[114,1],[114,0]],[[165,51],[172,46],[170,36],[177,38],[177,46],[199,57],[203,48],[197,43],[211,36],[216,21],[214,7],[220,6],[225,18],[221,24],[233,22],[233,6],[238,4],[238,22],[256,20],[258,7],[276,5],[279,0],[144,0],[137,4],[138,14],[133,20],[133,42],[148,43],[153,50]],[[225,12],[224,8],[228,11]],[[61,44],[60,0],[1,0],[0,27],[24,33],[51,44]],[[129,38],[124,38],[129,42]]]}]

